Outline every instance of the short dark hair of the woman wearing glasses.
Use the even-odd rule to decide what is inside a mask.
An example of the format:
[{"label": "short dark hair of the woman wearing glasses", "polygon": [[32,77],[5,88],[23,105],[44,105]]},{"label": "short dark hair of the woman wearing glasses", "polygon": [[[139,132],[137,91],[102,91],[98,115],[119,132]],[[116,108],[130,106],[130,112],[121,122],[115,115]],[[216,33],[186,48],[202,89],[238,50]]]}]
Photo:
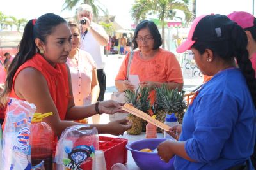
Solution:
[{"label": "short dark hair of the woman wearing glasses", "polygon": [[157,48],[159,48],[162,45],[163,40],[162,40],[160,32],[157,29],[156,24],[150,20],[143,20],[140,22],[140,24],[137,25],[137,27],[134,31],[134,36],[132,38],[133,49],[136,49],[138,47],[138,43],[135,41],[135,39],[137,38],[138,32],[144,28],[148,28],[148,30],[152,34],[152,36],[154,38],[153,50],[156,50]]}]

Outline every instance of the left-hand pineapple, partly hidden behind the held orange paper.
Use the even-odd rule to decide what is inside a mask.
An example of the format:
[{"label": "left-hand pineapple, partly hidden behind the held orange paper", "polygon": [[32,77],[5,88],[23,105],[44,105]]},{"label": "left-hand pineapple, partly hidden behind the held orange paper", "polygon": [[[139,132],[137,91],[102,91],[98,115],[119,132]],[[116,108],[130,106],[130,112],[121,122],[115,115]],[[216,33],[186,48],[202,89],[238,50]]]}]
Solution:
[{"label": "left-hand pineapple, partly hidden behind the held orange paper", "polygon": [[[149,88],[139,87],[136,91],[127,90],[125,92],[126,101],[132,103],[134,108],[141,110],[145,113],[150,108],[150,99],[149,99]],[[132,128],[127,131],[128,134],[140,134],[147,122],[139,117],[136,117],[132,114],[128,114],[127,117],[132,121]],[[145,123],[146,122],[146,123]]]}]

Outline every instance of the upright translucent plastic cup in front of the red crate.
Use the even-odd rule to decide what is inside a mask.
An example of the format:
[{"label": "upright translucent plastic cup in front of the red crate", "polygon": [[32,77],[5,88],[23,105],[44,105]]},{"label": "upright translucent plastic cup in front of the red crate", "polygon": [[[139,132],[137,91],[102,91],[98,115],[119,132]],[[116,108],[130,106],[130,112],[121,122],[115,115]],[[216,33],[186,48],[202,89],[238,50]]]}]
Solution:
[{"label": "upright translucent plastic cup in front of the red crate", "polygon": [[92,161],[92,170],[107,170],[106,160],[103,150],[95,150],[95,155]]}]

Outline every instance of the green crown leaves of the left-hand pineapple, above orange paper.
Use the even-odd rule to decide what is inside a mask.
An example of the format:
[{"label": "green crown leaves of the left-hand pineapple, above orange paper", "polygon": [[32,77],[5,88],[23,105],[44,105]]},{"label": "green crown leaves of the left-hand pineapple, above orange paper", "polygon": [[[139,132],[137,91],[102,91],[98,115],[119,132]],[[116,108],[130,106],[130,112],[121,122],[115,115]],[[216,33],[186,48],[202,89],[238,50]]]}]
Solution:
[{"label": "green crown leaves of the left-hand pineapple, above orange paper", "polygon": [[132,103],[134,108],[146,112],[150,109],[150,89],[148,87],[139,87],[137,90],[125,91],[125,101]]}]

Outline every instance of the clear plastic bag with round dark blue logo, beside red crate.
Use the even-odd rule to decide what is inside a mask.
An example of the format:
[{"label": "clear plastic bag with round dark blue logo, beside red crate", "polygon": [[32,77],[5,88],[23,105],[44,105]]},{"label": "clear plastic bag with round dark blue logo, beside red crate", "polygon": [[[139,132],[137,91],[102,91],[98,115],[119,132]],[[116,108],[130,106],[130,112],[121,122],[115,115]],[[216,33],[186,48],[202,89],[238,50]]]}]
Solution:
[{"label": "clear plastic bag with round dark blue logo, beside red crate", "polygon": [[95,127],[74,125],[62,132],[57,143],[55,162],[57,170],[81,169],[81,166],[92,160],[95,150],[99,150],[99,136]]}]

